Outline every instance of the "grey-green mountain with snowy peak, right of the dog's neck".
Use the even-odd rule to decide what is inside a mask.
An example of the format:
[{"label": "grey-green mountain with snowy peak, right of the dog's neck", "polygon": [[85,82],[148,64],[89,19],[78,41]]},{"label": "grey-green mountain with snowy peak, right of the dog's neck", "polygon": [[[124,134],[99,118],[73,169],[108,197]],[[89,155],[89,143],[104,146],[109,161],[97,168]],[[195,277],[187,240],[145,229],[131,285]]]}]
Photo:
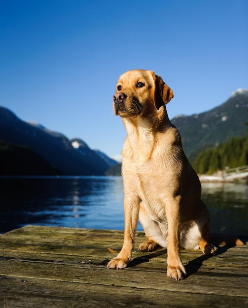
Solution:
[{"label": "grey-green mountain with snowy peak, right of the dog's neck", "polygon": [[245,136],[248,122],[248,90],[238,89],[223,104],[192,116],[177,116],[171,122],[179,129],[185,154],[192,162],[199,151],[231,137]]}]

